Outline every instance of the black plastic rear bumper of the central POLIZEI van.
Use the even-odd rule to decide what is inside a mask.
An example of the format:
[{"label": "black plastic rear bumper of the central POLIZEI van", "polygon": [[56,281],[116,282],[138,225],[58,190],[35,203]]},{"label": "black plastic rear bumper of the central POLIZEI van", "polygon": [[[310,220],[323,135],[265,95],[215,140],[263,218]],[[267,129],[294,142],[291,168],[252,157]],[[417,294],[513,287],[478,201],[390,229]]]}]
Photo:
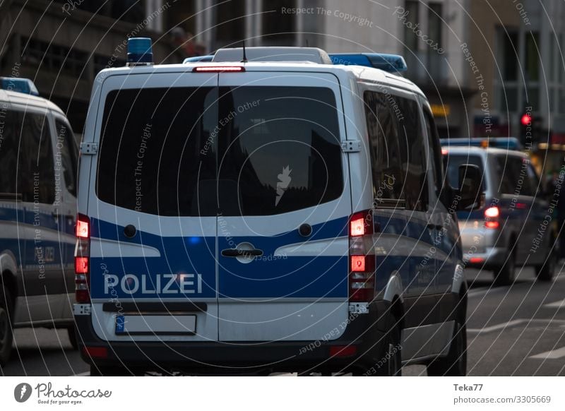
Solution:
[{"label": "black plastic rear bumper of the central POLIZEI van", "polygon": [[[328,341],[108,342],[95,334],[90,315],[75,318],[81,357],[97,367],[125,366],[134,372],[176,370],[222,374],[345,372],[363,371],[380,361],[389,307],[387,302],[371,304],[368,314],[350,316],[354,319],[341,337]],[[355,352],[331,357],[331,347],[335,346],[354,346]],[[90,357],[85,347],[89,352],[105,348],[107,356]]]}]

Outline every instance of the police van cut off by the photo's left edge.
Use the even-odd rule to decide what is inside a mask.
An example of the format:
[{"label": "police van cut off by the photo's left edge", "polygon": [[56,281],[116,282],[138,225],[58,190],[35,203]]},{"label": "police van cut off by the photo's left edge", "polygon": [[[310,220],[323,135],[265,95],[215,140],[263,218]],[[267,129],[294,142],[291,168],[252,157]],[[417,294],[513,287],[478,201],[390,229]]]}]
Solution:
[{"label": "police van cut off by the photo's left edge", "polygon": [[73,320],[78,145],[25,78],[0,78],[0,365],[13,328]]}]

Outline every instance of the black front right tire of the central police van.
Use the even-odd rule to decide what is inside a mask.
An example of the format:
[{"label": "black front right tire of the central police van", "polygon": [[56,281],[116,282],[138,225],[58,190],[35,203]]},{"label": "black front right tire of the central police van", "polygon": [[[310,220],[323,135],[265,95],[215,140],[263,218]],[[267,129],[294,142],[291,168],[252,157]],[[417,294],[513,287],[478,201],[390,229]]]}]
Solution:
[{"label": "black front right tire of the central police van", "polygon": [[427,366],[429,376],[465,376],[467,374],[467,326],[456,322],[447,357],[434,359]]}]

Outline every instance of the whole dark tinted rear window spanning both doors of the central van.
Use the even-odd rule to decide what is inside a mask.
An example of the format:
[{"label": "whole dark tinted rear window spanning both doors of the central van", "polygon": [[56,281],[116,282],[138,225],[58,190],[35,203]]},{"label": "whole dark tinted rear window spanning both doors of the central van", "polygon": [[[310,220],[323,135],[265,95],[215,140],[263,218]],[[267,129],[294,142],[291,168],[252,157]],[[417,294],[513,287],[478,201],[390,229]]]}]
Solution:
[{"label": "whole dark tinted rear window spanning both doors of the central van", "polygon": [[273,215],[343,191],[328,88],[145,88],[107,95],[97,196],[157,215]]}]

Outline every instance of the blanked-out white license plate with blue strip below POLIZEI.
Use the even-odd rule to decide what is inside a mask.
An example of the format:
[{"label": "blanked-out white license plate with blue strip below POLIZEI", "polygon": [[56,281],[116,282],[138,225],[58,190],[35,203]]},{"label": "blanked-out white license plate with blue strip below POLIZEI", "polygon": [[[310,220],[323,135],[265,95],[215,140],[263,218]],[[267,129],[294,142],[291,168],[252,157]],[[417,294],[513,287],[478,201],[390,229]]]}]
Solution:
[{"label": "blanked-out white license plate with blue strip below POLIZEI", "polygon": [[117,335],[194,335],[196,316],[116,316]]}]

